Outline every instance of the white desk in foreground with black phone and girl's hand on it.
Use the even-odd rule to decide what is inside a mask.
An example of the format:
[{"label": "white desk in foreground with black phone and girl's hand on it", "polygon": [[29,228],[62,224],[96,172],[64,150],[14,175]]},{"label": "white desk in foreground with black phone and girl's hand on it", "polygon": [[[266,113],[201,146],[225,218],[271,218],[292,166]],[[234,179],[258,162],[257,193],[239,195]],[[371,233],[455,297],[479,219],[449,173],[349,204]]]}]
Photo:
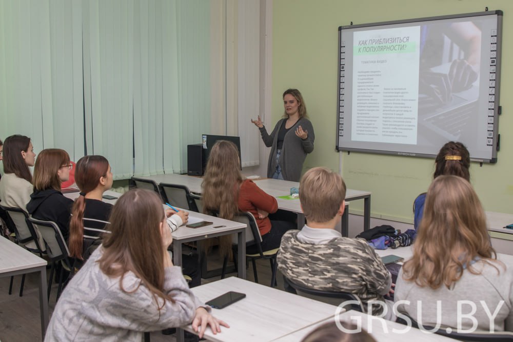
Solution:
[{"label": "white desk in foreground with black phone and girl's hand on it", "polygon": [[[216,335],[207,328],[205,338],[211,341],[270,341],[325,320],[337,309],[317,300],[235,277],[191,290],[202,301],[228,291],[246,294],[246,298],[224,309],[212,309],[212,315],[224,320],[230,328],[221,327],[221,333]],[[193,332],[190,325],[184,328]]]}]

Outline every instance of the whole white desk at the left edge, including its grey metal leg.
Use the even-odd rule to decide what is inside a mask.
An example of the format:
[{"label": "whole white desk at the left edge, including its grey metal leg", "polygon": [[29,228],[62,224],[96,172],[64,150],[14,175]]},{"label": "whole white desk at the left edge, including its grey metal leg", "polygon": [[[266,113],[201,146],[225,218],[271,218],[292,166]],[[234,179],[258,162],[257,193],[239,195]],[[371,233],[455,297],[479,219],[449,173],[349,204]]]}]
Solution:
[{"label": "whole white desk at the left edge, including its grey metal leg", "polygon": [[0,277],[40,272],[39,303],[43,339],[45,339],[46,327],[48,326],[46,265],[46,260],[0,236]]}]

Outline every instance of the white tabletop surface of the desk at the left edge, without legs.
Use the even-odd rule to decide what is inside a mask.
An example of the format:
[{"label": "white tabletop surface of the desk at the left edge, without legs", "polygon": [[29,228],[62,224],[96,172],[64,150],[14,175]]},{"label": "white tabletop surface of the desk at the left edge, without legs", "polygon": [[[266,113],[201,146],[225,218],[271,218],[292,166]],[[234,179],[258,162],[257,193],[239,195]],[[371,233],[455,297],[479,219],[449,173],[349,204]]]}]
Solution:
[{"label": "white tabletop surface of the desk at the left edge, without legs", "polygon": [[47,265],[47,261],[0,236],[0,274]]}]

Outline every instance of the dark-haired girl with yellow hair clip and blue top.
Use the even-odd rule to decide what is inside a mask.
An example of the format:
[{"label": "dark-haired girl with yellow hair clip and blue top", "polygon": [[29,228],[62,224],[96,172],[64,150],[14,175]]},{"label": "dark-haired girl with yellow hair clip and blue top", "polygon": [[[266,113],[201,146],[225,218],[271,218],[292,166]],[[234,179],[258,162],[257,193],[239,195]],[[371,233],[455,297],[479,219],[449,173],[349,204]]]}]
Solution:
[{"label": "dark-haired girl with yellow hair clip and blue top", "polygon": [[[441,175],[454,175],[460,176],[470,182],[470,155],[467,148],[462,143],[448,142],[438,152],[435,159],[435,173],[433,179]],[[413,227],[415,230],[419,228],[424,212],[424,202],[426,200],[426,193],[421,193],[415,201],[413,201],[413,213],[415,214],[413,220]]]}]

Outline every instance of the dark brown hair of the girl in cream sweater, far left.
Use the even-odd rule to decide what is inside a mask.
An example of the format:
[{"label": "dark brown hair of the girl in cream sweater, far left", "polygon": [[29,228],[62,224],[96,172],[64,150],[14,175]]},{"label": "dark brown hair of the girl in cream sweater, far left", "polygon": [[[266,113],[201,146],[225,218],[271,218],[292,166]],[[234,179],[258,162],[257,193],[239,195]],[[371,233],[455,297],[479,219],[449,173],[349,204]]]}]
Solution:
[{"label": "dark brown hair of the girl in cream sweater, far left", "polygon": [[30,138],[25,135],[14,134],[4,140],[4,173],[14,173],[16,177],[23,178],[32,183],[32,174],[23,159],[22,151],[27,152]]}]

